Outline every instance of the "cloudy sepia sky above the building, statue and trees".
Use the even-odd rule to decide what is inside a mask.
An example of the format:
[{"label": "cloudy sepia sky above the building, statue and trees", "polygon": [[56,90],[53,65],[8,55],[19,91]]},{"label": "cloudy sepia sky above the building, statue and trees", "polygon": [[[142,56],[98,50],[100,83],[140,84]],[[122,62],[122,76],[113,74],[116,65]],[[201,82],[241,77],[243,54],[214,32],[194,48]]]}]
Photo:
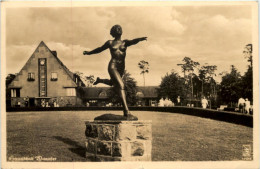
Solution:
[{"label": "cloudy sepia sky above the building, statue and trees", "polygon": [[187,56],[201,65],[217,65],[217,73],[235,65],[243,74],[244,46],[252,43],[251,6],[50,7],[6,10],[7,73],[17,73],[44,41],[71,71],[109,78],[109,50],[82,55],[112,39],[110,28],[120,24],[122,39],[147,36],[127,49],[126,69],[143,85],[138,62],[150,63],[146,85],[161,77]]}]

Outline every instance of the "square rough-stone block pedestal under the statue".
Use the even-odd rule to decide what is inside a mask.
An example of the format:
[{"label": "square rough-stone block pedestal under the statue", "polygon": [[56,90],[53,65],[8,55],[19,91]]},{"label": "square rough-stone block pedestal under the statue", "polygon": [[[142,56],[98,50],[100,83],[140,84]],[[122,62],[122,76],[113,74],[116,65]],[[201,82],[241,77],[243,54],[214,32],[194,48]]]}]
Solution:
[{"label": "square rough-stone block pedestal under the statue", "polygon": [[86,121],[87,161],[151,161],[151,121]]}]

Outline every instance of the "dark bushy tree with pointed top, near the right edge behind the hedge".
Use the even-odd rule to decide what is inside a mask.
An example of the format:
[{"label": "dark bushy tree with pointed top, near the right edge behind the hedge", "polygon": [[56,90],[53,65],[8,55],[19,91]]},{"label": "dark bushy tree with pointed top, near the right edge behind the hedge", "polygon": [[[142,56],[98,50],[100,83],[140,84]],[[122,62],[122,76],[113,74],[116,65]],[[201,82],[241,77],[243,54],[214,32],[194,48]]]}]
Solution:
[{"label": "dark bushy tree with pointed top, near the right edge behind the hedge", "polygon": [[220,83],[220,98],[225,104],[236,103],[242,96],[241,75],[234,65],[231,65],[231,72],[222,76]]}]

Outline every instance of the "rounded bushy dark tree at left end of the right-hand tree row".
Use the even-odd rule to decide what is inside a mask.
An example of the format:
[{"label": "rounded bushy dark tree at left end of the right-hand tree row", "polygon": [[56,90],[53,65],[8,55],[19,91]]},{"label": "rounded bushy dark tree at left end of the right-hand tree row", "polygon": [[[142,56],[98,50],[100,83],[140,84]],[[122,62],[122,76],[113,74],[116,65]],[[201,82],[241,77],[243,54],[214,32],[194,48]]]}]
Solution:
[{"label": "rounded bushy dark tree at left end of the right-hand tree row", "polygon": [[185,79],[181,78],[178,73],[172,71],[166,74],[161,81],[158,89],[159,97],[168,97],[173,102],[177,102],[177,97],[186,98],[187,84]]}]

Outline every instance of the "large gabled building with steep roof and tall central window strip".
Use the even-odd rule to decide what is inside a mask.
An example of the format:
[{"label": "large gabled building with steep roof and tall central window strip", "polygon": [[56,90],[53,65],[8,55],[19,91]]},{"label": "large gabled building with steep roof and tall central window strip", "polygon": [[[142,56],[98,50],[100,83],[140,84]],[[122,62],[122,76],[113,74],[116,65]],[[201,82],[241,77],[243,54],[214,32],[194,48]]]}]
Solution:
[{"label": "large gabled building with steep roof and tall central window strip", "polygon": [[82,105],[80,77],[72,73],[42,41],[8,85],[12,107]]}]

